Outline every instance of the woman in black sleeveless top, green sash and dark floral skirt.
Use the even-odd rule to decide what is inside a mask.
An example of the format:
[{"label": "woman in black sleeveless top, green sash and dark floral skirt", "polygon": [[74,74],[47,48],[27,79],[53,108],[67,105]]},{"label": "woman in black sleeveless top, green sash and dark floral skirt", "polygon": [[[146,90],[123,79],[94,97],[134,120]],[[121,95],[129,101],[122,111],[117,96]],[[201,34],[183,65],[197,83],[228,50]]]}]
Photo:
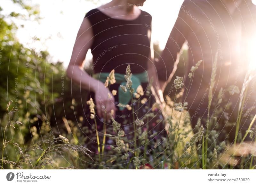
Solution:
[{"label": "woman in black sleeveless top, green sash and dark floral skirt", "polygon": [[[127,97],[127,93],[125,95],[120,91],[120,84],[125,85],[125,79],[122,81],[122,77],[124,78],[128,64],[132,77],[134,77],[133,80],[138,82],[133,82],[133,84],[137,84],[135,91],[138,87],[142,87],[144,91],[135,93],[137,99],[134,99],[133,105],[136,118],[142,119],[145,114],[152,112],[151,106],[154,99],[150,95],[146,96],[146,89],[148,88],[148,79],[156,76],[156,72],[152,63],[153,48],[150,42],[152,17],[138,8],[144,2],[145,0],[112,0],[108,4],[89,11],[78,31],[67,75],[73,82],[89,90],[90,97],[88,99],[92,98],[96,104],[97,127],[94,125],[95,120],[91,115],[89,105],[85,109],[85,124],[92,131],[92,135],[87,136],[94,142],[93,145],[87,147],[92,152],[102,152],[102,146],[100,146],[100,150],[98,147],[97,151],[98,141],[93,136],[96,131],[99,131],[99,140],[102,144],[106,133],[104,129],[102,131],[102,128],[105,126],[104,124],[108,128],[112,127],[111,116],[121,123],[121,128],[127,134],[127,138],[132,138],[134,135],[134,131],[131,130],[133,127],[130,126],[133,118],[131,96]],[[84,58],[88,49],[92,50],[93,55],[93,77],[83,70]],[[116,83],[106,88],[104,82],[113,69]],[[130,106],[126,106],[126,108],[117,106],[119,103]],[[156,132],[155,135],[158,137],[165,135],[164,122],[156,122],[159,118],[160,120],[163,118],[161,116],[158,114],[158,116],[148,119],[150,120],[148,122],[144,120],[145,124],[142,129],[148,129],[150,134]],[[124,125],[125,122],[126,125]],[[113,142],[111,139],[107,139],[105,148],[109,149],[108,146],[115,145]]]}]

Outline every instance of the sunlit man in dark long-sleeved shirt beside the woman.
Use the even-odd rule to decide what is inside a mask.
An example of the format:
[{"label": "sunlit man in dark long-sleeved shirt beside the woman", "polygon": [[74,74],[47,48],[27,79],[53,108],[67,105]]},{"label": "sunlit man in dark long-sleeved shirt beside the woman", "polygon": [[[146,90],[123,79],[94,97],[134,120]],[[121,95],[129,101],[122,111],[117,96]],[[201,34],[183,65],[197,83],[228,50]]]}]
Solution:
[{"label": "sunlit man in dark long-sleeved shirt beside the woman", "polygon": [[[228,123],[235,123],[237,119],[239,96],[250,63],[248,59],[250,45],[248,43],[252,40],[252,35],[255,32],[255,12],[255,5],[250,0],[185,0],[182,4],[179,16],[156,66],[158,79],[163,84],[171,74],[177,53],[180,52],[185,40],[189,47],[188,70],[195,66],[197,61],[203,60],[191,77],[190,85],[190,79],[187,76],[190,71],[187,69],[185,71],[187,75],[184,85],[188,89],[188,94],[186,97],[183,96],[183,101],[188,102],[193,128],[195,128],[198,118],[201,117],[203,118],[202,124],[206,124],[209,86],[214,72],[215,54],[218,52],[212,94],[216,99],[220,89],[223,88],[219,95],[219,98],[223,96],[223,101],[220,105],[212,101],[210,118],[211,115],[214,117],[222,106],[223,113],[220,114],[217,121],[222,124],[222,127],[226,125],[225,132],[233,141],[236,126],[228,125]],[[255,46],[254,44],[252,46]],[[161,73],[159,73],[160,71]],[[256,85],[254,82],[255,78],[251,80],[248,88],[251,94],[249,94],[249,90],[246,91],[245,97],[250,96],[250,101],[248,100],[246,105],[243,104],[244,111],[255,105]],[[255,115],[255,109],[251,113]],[[241,121],[243,134],[248,129],[250,122],[249,118]],[[226,136],[221,138],[221,140],[224,139],[227,139]]]}]

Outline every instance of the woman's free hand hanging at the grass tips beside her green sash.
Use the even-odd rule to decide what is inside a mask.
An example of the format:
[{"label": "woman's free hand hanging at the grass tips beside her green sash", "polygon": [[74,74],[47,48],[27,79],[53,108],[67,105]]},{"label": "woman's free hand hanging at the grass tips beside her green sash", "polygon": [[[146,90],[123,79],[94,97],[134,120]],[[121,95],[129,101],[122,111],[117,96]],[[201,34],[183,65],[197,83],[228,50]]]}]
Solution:
[{"label": "woman's free hand hanging at the grass tips beside her green sash", "polygon": [[[95,93],[95,103],[97,108],[97,115],[100,118],[110,120],[111,117],[116,115],[115,98],[112,93],[99,81],[97,86],[93,89]],[[111,112],[111,110],[113,110]]]}]

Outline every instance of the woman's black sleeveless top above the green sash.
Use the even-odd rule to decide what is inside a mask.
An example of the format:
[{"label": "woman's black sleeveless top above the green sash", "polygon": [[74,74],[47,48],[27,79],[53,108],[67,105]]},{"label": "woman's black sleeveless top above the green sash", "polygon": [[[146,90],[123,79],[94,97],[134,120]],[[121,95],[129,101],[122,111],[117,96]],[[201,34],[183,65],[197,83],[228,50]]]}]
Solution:
[{"label": "woman's black sleeveless top above the green sash", "polygon": [[111,18],[98,9],[89,11],[88,18],[93,30],[91,47],[95,73],[125,73],[128,64],[132,73],[147,70],[150,54],[151,20],[152,17],[141,11],[138,18],[124,20]]}]

